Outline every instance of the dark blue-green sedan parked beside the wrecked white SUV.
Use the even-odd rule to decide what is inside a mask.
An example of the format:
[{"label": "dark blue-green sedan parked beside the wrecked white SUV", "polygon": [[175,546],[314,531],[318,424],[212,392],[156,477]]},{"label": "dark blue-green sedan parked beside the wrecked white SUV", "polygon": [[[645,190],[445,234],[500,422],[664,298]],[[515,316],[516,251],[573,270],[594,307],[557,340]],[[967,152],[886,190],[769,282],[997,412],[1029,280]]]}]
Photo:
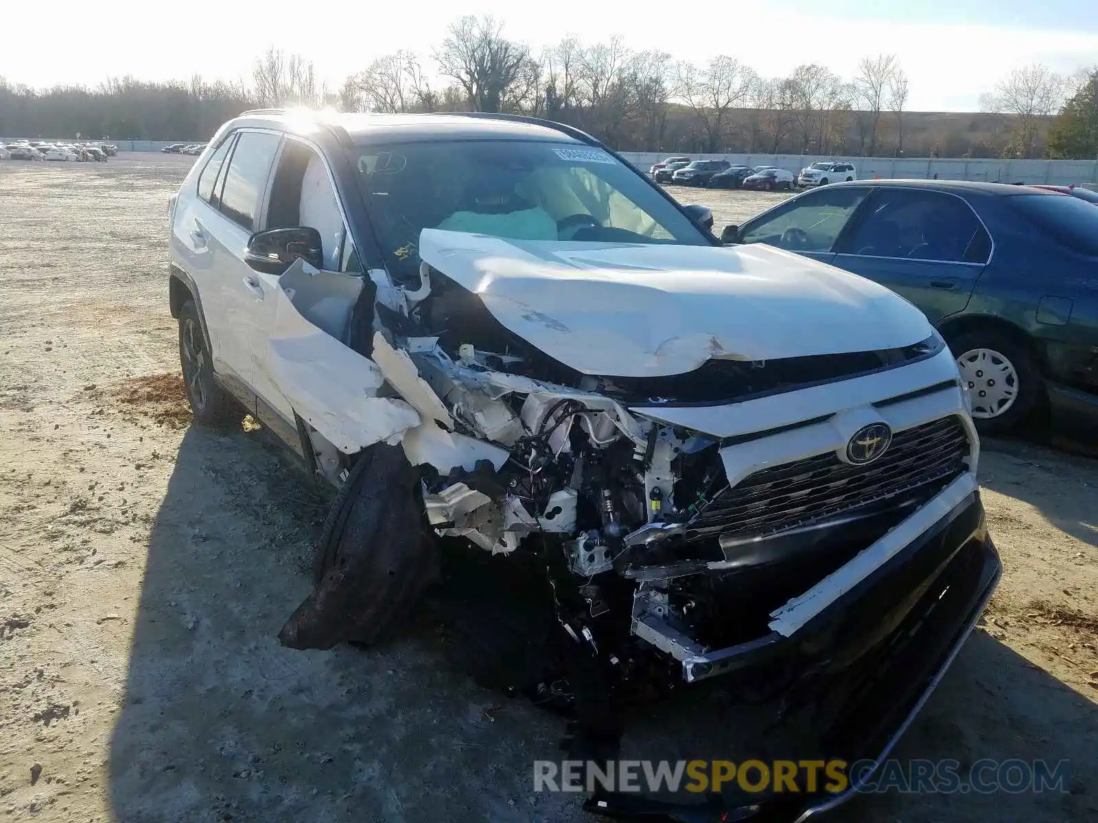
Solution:
[{"label": "dark blue-green sedan parked beside the wrecked white SUV", "polygon": [[721,239],[821,260],[917,305],[957,356],[981,430],[1009,429],[1045,398],[1095,430],[1095,205],[999,183],[836,183],[728,226]]}]

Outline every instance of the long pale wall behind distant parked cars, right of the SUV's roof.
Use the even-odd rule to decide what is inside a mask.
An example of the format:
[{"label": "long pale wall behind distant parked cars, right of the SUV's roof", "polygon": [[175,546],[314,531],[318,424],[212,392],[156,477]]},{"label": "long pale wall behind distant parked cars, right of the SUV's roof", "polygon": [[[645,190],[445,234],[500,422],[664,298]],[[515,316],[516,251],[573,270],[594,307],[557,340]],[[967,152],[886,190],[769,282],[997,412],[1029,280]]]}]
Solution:
[{"label": "long pale wall behind distant parked cars, right of the SUV's roof", "polygon": [[623,151],[637,168],[648,171],[653,162],[680,154],[699,160],[728,160],[733,166],[776,166],[796,173],[817,160],[849,160],[860,179],[876,177],[942,180],[983,180],[995,183],[1052,183],[1078,185],[1098,182],[1098,160],[965,160],[928,157],[817,157],[814,155],[699,155],[690,151]]}]

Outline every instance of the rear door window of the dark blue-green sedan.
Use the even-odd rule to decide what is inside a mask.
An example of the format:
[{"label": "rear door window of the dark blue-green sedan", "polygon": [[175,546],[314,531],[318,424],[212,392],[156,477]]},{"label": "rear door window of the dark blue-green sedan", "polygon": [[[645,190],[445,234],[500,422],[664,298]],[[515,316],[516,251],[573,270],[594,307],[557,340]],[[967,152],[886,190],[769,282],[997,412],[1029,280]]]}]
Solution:
[{"label": "rear door window of the dark blue-green sedan", "polygon": [[990,238],[961,198],[878,189],[844,246],[850,253],[870,257],[986,262]]}]

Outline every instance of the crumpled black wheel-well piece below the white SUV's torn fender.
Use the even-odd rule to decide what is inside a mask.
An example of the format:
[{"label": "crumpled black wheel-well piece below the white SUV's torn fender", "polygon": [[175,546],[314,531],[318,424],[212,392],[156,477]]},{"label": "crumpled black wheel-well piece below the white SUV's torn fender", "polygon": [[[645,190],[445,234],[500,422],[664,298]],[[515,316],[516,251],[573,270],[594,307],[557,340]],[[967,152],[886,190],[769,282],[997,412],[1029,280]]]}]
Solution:
[{"label": "crumpled black wheel-well piece below the white SUV's torn fender", "polygon": [[371,644],[407,616],[438,578],[417,483],[400,447],[378,444],[359,458],[324,525],[316,587],[279,632],[283,645]]}]

